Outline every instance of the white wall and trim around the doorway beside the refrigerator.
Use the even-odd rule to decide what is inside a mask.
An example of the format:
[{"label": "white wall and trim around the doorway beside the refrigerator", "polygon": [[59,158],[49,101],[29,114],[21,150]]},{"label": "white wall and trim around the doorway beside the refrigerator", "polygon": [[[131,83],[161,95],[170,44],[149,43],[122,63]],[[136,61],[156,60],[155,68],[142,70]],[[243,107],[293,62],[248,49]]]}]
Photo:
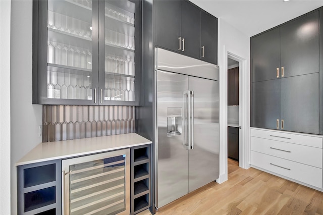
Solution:
[{"label": "white wall and trim around the doorway beside the refrigerator", "polygon": [[[239,116],[240,132],[245,143],[243,148],[246,162],[240,167],[249,167],[249,130],[250,130],[250,37],[246,36],[230,24],[219,18],[218,29],[218,65],[220,66],[220,178],[217,182],[222,183],[228,180],[228,131],[227,131],[227,104],[228,104],[228,52],[243,59],[242,67],[239,70],[240,95],[239,106],[243,113]],[[236,59],[235,59],[236,60]],[[246,71],[241,74],[241,71]],[[240,142],[239,142],[240,143]]]}]

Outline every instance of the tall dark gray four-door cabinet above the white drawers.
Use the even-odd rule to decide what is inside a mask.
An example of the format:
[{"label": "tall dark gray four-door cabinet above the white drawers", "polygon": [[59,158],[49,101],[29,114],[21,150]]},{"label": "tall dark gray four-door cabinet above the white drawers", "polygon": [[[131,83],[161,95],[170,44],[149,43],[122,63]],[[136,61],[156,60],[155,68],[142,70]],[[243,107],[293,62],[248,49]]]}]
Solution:
[{"label": "tall dark gray four-door cabinet above the white drawers", "polygon": [[322,8],[251,37],[251,127],[323,134]]}]

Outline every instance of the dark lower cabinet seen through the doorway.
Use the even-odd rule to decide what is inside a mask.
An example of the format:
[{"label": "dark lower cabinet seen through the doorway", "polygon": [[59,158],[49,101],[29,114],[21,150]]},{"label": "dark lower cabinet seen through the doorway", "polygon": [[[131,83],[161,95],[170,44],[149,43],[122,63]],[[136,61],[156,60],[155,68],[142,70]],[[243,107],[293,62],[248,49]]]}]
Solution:
[{"label": "dark lower cabinet seen through the doorway", "polygon": [[228,126],[228,157],[239,161],[239,128]]}]

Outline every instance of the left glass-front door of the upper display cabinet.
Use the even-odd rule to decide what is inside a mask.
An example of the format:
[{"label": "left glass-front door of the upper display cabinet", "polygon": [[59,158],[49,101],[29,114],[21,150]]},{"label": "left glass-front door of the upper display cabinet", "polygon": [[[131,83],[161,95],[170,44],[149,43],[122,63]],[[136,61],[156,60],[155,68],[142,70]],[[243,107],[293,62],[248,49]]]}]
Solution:
[{"label": "left glass-front door of the upper display cabinet", "polygon": [[97,18],[92,19],[92,14],[97,15],[97,5],[90,0],[39,1],[38,13],[38,22],[43,23],[39,30],[47,35],[43,38],[38,33],[39,46],[45,46],[41,40],[47,40],[46,53],[45,47],[38,48],[38,61],[44,62],[47,56],[46,65],[38,63],[40,99],[48,103],[92,104],[92,89],[97,85],[98,31]]}]

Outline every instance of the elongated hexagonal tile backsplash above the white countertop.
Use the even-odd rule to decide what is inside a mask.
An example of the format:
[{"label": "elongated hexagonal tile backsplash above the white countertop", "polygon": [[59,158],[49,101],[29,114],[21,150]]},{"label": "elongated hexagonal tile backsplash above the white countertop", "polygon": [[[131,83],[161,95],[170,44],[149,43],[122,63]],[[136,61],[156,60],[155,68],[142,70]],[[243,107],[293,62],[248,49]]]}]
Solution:
[{"label": "elongated hexagonal tile backsplash above the white countertop", "polygon": [[134,106],[43,105],[43,142],[135,132]]}]

